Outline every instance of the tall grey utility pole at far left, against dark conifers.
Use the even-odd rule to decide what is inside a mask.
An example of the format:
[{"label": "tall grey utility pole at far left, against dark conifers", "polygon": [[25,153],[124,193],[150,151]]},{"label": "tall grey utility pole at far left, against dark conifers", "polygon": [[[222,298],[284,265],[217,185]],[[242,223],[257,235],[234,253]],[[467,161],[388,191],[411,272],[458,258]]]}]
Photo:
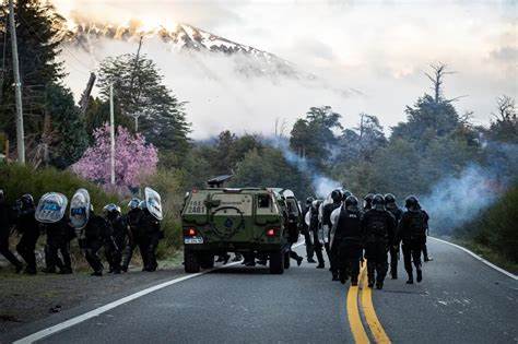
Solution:
[{"label": "tall grey utility pole at far left, against dark conifers", "polygon": [[14,24],[14,4],[9,0],[9,21],[11,24],[11,43],[13,55],[14,93],[16,98],[16,149],[17,161],[25,164],[25,142],[23,134],[22,82],[20,81],[20,66],[17,60],[16,25]]}]

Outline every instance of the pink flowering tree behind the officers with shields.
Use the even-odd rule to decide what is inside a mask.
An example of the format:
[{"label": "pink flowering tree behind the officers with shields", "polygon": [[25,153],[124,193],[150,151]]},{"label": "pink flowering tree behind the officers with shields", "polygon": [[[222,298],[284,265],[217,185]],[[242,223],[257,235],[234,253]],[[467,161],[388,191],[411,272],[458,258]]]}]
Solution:
[{"label": "pink flowering tree behind the officers with shields", "polygon": [[[145,143],[141,134],[132,134],[118,127],[115,135],[115,182],[117,189],[126,191],[140,186],[145,177],[153,175],[158,162],[158,152]],[[110,140],[109,126],[94,131],[94,144],[72,165],[81,177],[110,188]],[[122,189],[122,190],[121,190]]]}]

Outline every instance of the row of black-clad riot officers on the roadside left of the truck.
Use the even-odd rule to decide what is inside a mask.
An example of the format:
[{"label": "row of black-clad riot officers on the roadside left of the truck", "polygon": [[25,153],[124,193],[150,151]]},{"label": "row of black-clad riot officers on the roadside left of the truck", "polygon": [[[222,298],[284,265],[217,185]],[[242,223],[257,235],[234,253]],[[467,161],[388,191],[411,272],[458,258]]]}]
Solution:
[{"label": "row of black-clad riot officers on the roadside left of the truck", "polygon": [[[45,273],[72,273],[70,242],[75,238],[93,270],[92,275],[103,275],[102,248],[109,273],[127,272],[137,247],[143,261],[142,271],[155,271],[156,248],[163,238],[160,221],[150,214],[145,201],[132,199],[128,209],[123,215],[118,205],[110,203],[103,209],[103,215],[98,215],[90,205],[86,226],[76,230],[67,215],[56,223],[38,223],[31,194],[23,194],[14,205],[10,205],[0,189],[0,254],[15,266],[17,273],[36,274],[36,242],[40,234],[45,234]],[[25,264],[10,250],[9,239],[13,233],[21,235],[16,251]]]}]

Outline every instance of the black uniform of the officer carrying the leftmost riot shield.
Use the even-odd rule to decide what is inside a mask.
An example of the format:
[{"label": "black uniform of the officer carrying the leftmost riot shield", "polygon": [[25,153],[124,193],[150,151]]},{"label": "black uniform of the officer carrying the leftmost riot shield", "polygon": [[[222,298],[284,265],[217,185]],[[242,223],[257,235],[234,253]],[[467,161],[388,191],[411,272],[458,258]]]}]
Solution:
[{"label": "black uniform of the officer carrying the leftmost riot shield", "polygon": [[[47,245],[45,246],[45,272],[55,273],[59,268],[60,273],[72,273],[72,262],[70,260],[70,240],[74,233],[69,226],[67,216],[51,224],[43,225],[47,234]],[[58,256],[61,253],[63,260]]]}]

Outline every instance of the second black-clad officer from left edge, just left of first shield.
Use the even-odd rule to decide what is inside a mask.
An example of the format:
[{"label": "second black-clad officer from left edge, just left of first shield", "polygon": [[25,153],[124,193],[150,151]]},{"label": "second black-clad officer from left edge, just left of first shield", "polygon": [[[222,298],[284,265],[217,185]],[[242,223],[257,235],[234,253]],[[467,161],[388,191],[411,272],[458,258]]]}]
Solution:
[{"label": "second black-clad officer from left edge, just left of first shield", "polygon": [[39,225],[34,217],[36,207],[31,194],[24,194],[17,200],[16,230],[22,235],[16,251],[27,263],[25,273],[36,274],[36,241],[39,238]]}]

